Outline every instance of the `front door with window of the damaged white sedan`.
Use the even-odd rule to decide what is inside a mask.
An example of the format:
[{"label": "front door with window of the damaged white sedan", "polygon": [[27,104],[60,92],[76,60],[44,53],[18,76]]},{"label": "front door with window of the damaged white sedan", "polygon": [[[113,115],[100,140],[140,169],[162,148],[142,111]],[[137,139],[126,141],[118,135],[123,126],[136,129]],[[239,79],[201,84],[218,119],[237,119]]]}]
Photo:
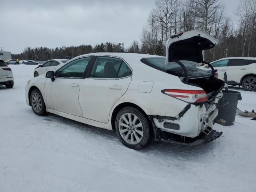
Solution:
[{"label": "front door with window of the damaged white sedan", "polygon": [[80,85],[92,57],[73,60],[55,73],[55,80],[45,82],[45,97],[48,108],[75,116],[82,116],[78,101]]}]

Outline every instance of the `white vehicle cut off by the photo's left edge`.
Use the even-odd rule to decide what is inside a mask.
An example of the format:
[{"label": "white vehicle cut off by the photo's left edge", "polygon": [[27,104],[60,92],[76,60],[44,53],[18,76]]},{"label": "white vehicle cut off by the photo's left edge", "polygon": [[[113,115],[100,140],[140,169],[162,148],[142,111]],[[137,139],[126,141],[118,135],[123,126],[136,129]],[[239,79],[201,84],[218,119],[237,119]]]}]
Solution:
[{"label": "white vehicle cut off by the photo's left edge", "polygon": [[6,88],[12,88],[14,85],[12,70],[2,59],[0,59],[0,85],[5,85]]}]

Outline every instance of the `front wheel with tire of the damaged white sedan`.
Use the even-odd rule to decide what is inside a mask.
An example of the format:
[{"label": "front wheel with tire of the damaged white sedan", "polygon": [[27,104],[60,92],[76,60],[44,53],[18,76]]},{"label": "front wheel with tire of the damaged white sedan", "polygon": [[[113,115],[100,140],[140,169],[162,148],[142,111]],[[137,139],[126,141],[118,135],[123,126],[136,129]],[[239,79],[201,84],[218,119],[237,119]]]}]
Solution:
[{"label": "front wheel with tire of the damaged white sedan", "polygon": [[46,114],[44,99],[38,89],[32,90],[30,94],[30,104],[33,112],[36,115],[43,116],[44,114]]}]

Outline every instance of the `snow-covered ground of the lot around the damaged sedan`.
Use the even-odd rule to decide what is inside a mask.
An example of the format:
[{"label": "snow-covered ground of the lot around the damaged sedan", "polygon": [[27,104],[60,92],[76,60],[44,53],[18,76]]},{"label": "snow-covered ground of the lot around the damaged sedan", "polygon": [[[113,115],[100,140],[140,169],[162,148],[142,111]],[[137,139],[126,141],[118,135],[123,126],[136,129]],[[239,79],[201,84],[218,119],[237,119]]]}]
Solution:
[{"label": "snow-covered ground of the lot around the damaged sedan", "polygon": [[[36,116],[25,86],[36,66],[10,66],[14,88],[0,86],[0,192],[255,191],[256,121],[234,126],[200,146],[153,143],[135,151],[113,131],[56,115]],[[256,92],[241,110],[256,110]]]}]

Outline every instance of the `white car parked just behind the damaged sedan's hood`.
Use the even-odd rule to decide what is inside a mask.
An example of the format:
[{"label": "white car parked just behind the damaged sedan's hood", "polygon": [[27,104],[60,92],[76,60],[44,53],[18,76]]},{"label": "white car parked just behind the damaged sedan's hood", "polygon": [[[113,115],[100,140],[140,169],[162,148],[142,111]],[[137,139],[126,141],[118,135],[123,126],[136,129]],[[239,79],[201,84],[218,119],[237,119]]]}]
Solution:
[{"label": "white car parked just behind the damaged sedan's hood", "polygon": [[44,64],[39,65],[37,68],[34,69],[34,77],[39,75],[45,74],[48,71],[54,71],[59,65],[63,65],[66,63],[68,59],[52,59],[46,61]]}]

